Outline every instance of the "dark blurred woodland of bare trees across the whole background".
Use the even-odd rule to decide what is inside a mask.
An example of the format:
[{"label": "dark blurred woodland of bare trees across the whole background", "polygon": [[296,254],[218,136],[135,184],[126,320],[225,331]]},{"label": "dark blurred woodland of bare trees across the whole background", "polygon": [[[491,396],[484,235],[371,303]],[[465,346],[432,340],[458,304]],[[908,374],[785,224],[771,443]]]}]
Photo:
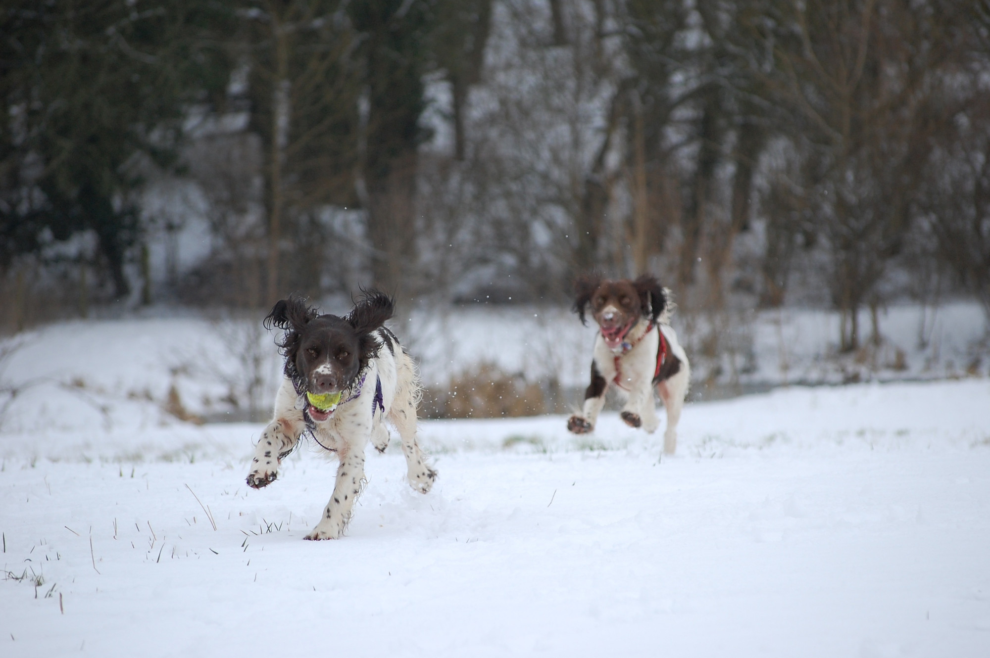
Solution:
[{"label": "dark blurred woodland of bare trees across the whole background", "polygon": [[660,275],[710,353],[785,303],[838,309],[841,350],[897,299],[990,315],[988,0],[6,0],[0,22],[8,329],[358,285],[557,303],[591,268]]}]

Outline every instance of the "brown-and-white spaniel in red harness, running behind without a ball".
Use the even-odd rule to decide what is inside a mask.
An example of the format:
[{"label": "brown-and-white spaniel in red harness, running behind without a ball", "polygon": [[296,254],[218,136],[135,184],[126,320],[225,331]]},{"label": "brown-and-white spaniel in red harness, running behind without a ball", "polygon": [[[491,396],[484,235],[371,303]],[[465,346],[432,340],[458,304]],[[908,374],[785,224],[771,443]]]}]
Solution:
[{"label": "brown-and-white spaniel in red harness, running behind without a ball", "polygon": [[614,384],[628,397],[622,420],[652,433],[659,425],[653,406],[655,387],[667,409],[663,451],[673,454],[691,370],[669,325],[670,291],[649,275],[635,281],[591,275],[579,278],[574,292],[574,313],[587,325],[585,314],[590,310],[598,335],[584,409],[570,417],[567,428],[575,434],[592,431],[605,404],[605,391]]}]

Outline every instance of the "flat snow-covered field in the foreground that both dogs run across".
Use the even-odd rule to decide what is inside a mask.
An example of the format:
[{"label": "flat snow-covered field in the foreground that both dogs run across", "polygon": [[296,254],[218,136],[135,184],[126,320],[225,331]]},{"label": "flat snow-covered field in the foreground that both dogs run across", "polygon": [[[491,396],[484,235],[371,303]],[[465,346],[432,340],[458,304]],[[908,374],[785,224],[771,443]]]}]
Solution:
[{"label": "flat snow-covered field in the foreground that both dogs run across", "polygon": [[990,655],[984,378],[691,404],[662,461],[615,415],[426,422],[434,491],[369,454],[325,542],[312,450],[253,491],[260,425],[103,416],[0,433],[0,655]]}]

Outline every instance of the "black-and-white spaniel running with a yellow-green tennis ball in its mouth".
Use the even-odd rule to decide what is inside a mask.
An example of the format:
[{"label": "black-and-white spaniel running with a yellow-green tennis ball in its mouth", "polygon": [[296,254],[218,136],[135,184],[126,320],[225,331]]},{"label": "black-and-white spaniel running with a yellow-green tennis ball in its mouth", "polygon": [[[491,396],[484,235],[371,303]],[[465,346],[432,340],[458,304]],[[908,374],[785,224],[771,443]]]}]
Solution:
[{"label": "black-and-white spaniel running with a yellow-green tennis ball in its mouth", "polygon": [[385,421],[402,438],[409,484],[426,494],[437,479],[416,442],[420,384],[412,358],[385,328],[393,300],[366,293],[346,318],[320,315],[304,299],[281,300],[264,319],[266,329],[285,329],[278,343],[285,379],[275,396],[275,418],[261,432],[247,484],[260,489],[275,481],[278,464],[304,433],[337,453],[334,495],[307,539],[336,539],[350,519],[364,483],[364,449],[388,445]]}]

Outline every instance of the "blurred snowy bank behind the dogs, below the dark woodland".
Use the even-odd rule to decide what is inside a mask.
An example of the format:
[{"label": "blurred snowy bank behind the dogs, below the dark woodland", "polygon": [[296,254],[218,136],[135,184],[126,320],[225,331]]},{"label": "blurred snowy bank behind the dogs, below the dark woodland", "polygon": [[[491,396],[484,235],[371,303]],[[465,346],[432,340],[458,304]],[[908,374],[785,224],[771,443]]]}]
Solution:
[{"label": "blurred snowy bank behind the dogs, below the dark woodland", "polygon": [[[674,318],[699,378],[694,400],[713,396],[701,381],[713,369],[724,393],[990,375],[990,342],[975,304],[891,308],[880,315],[881,344],[849,355],[836,353],[834,313],[760,313],[737,327],[750,347],[718,363],[693,344],[701,333]],[[436,391],[486,362],[545,388],[555,382],[558,412],[581,399],[595,334],[562,309],[481,306],[397,318],[396,330]],[[274,338],[259,318],[154,317],[58,323],[0,340],[0,432],[263,420],[281,376]]]}]

